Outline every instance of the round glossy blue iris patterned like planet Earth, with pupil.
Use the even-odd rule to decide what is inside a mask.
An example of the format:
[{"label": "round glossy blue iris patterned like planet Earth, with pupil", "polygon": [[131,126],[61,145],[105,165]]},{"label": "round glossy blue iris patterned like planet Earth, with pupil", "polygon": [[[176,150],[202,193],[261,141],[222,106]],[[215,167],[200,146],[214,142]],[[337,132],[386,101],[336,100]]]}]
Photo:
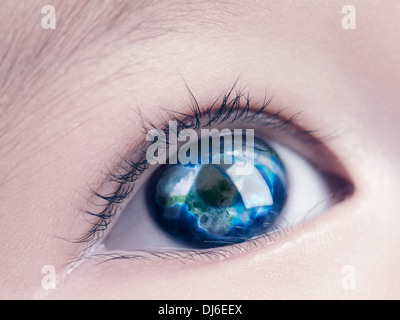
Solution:
[{"label": "round glossy blue iris patterned like planet Earth, with pupil", "polygon": [[196,164],[161,167],[147,194],[152,217],[166,234],[192,248],[213,248],[268,232],[286,200],[286,173],[266,142],[255,138],[253,147],[251,162],[222,144],[220,159],[230,154],[229,163],[213,163],[210,148],[199,150]]}]

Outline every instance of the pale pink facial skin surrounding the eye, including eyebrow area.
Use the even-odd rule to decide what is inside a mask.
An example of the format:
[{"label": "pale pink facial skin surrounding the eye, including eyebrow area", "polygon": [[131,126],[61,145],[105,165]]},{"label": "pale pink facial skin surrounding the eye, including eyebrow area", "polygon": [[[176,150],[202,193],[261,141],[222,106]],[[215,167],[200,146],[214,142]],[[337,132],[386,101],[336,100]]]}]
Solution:
[{"label": "pale pink facial skin surrounding the eye, including eyebrow area", "polygon": [[[41,27],[46,1],[2,4],[0,297],[400,298],[400,3],[381,3],[352,1],[355,30],[341,1],[149,2],[119,19],[54,2],[55,30]],[[335,133],[324,144],[351,197],[223,261],[87,260],[66,274],[85,244],[61,238],[90,229],[90,190],[144,139],[138,110],[157,122],[160,107],[187,111],[185,82],[206,105],[238,78],[255,100],[268,89],[271,110]],[[55,289],[41,286],[44,265]]]}]

